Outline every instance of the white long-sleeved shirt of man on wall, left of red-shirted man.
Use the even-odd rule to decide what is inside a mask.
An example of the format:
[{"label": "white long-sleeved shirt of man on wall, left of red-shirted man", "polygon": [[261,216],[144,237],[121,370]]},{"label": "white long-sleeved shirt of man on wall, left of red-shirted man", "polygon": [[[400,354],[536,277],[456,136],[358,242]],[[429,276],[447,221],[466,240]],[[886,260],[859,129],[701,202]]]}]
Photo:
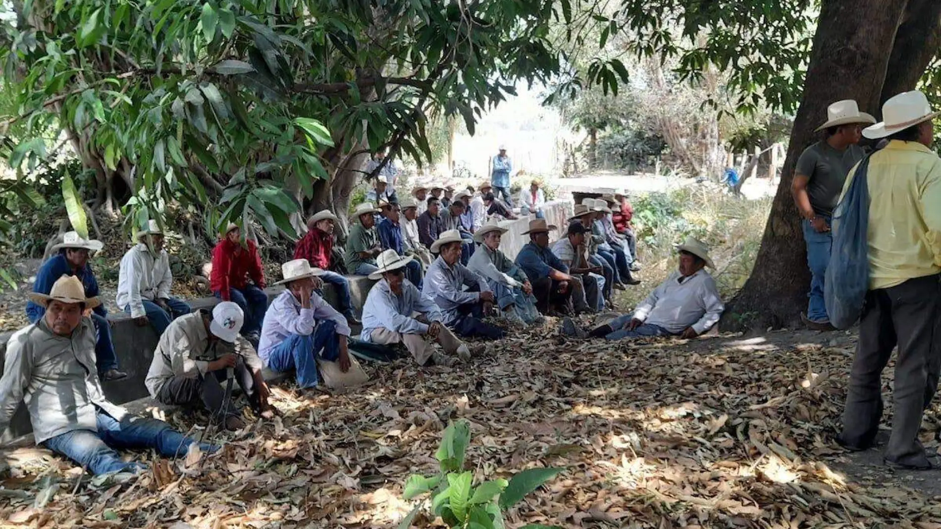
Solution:
[{"label": "white long-sleeved shirt of man on wall, left of red-shirted man", "polygon": [[120,260],[118,273],[118,307],[131,306],[131,317],[146,315],[144,299],[153,301],[170,297],[173,274],[167,250],[154,256],[147,245],[138,243],[127,250]]}]

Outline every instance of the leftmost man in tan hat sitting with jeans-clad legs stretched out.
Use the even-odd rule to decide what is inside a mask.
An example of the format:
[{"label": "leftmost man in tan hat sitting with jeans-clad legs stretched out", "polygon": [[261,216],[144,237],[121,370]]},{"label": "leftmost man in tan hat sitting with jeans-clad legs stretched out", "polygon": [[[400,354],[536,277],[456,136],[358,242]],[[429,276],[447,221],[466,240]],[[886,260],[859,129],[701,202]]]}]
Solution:
[{"label": "leftmost man in tan hat sitting with jeans-clad legs stretched out", "polygon": [[[30,298],[45,313],[9,339],[0,378],[0,431],[25,401],[36,443],[91,473],[147,468],[124,461],[116,448],[153,448],[164,457],[183,457],[197,441],[163,421],[130,415],[104,398],[95,369],[95,326],[82,316],[101,302],[85,296],[82,281],[62,276],[48,295]],[[202,442],[199,448],[218,450]]]}]

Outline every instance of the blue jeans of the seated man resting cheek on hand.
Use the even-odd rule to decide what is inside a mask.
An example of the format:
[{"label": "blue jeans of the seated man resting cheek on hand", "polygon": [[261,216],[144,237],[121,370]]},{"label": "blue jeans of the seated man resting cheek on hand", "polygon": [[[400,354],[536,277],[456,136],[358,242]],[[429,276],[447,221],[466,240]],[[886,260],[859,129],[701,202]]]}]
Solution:
[{"label": "blue jeans of the seated man resting cheek on hand", "polygon": [[[319,353],[319,355],[318,355]],[[268,353],[265,363],[273,371],[297,371],[297,385],[313,388],[320,382],[316,357],[326,361],[340,358],[340,338],[337,324],[325,320],[317,325],[313,334],[292,334]]]}]

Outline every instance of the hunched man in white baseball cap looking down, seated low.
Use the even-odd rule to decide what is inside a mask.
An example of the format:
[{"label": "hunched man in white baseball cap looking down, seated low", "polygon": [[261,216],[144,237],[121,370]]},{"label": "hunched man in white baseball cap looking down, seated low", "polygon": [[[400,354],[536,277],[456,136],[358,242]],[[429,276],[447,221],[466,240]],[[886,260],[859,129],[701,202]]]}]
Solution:
[{"label": "hunched man in white baseball cap looking down, seated low", "polygon": [[238,430],[245,427],[242,413],[232,405],[231,390],[225,389],[227,380],[234,378],[251,409],[265,419],[273,418],[262,360],[238,335],[244,321],[241,307],[231,301],[219,303],[212,313],[201,310],[177,318],[153,351],[144,382],[147,391],[163,404],[201,404],[216,422]]}]

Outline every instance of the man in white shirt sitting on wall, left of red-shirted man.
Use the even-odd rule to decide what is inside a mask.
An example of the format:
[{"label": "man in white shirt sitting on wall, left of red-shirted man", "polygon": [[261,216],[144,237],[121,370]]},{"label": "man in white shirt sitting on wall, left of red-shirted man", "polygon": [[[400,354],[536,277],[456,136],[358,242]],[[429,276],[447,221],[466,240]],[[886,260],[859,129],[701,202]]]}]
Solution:
[{"label": "man in white shirt sitting on wall, left of red-shirted man", "polygon": [[156,220],[148,220],[147,229],[137,232],[137,244],[120,260],[118,306],[137,327],[151,324],[160,336],[171,321],[192,312],[185,301],[170,296],[172,285],[164,232]]}]

